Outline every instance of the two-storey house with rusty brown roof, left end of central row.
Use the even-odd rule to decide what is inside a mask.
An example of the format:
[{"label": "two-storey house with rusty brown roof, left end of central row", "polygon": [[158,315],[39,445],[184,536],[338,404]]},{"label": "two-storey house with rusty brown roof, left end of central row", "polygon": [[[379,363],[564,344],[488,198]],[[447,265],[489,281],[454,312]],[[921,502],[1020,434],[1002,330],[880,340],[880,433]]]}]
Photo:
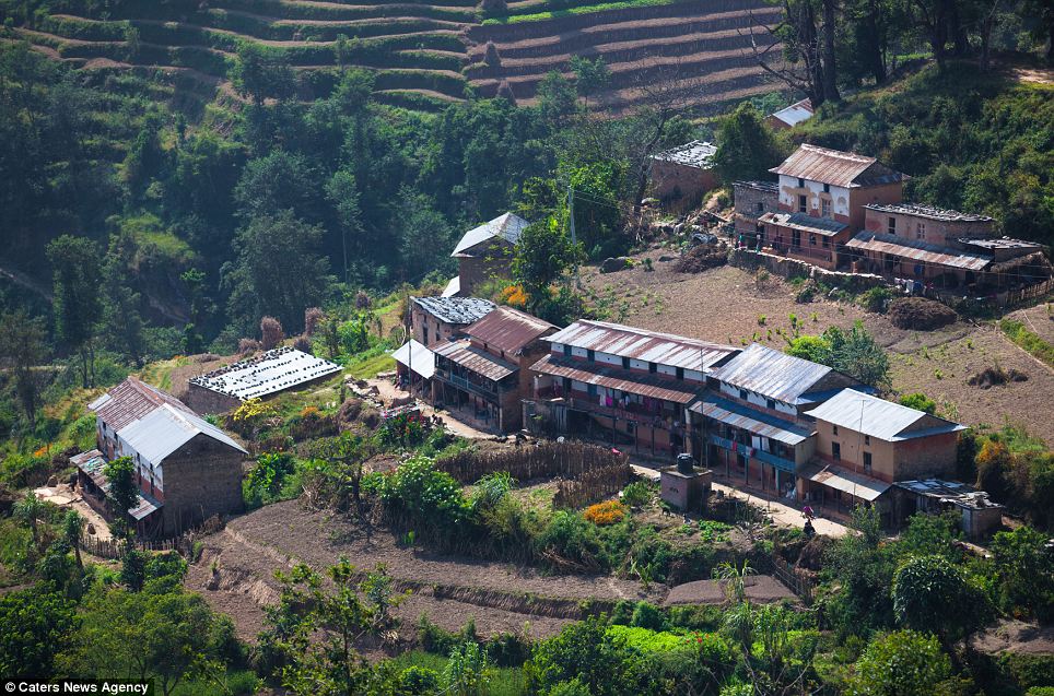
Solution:
[{"label": "two-storey house with rusty brown roof, left end of central row", "polygon": [[496,307],[465,328],[465,339],[433,345],[432,401],[502,432],[520,427],[520,400],[530,394],[530,366],[548,350],[557,327]]}]

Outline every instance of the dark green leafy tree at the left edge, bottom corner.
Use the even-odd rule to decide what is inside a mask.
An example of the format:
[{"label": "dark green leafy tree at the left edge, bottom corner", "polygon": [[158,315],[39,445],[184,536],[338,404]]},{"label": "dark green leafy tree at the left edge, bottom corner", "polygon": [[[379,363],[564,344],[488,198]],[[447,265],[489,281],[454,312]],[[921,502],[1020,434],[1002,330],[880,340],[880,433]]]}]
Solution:
[{"label": "dark green leafy tree at the left edge, bottom corner", "polygon": [[44,586],[0,595],[0,679],[48,679],[77,626],[75,604]]}]

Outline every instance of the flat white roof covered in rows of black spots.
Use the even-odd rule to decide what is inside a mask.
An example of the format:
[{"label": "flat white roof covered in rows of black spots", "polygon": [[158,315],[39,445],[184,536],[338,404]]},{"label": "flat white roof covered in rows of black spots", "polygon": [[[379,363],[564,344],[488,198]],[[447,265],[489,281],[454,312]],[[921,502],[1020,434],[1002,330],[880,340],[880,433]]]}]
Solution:
[{"label": "flat white roof covered in rows of black spots", "polygon": [[341,369],[340,365],[320,357],[296,349],[281,347],[194,377],[190,384],[245,401],[284,391],[326,375],[335,375]]}]

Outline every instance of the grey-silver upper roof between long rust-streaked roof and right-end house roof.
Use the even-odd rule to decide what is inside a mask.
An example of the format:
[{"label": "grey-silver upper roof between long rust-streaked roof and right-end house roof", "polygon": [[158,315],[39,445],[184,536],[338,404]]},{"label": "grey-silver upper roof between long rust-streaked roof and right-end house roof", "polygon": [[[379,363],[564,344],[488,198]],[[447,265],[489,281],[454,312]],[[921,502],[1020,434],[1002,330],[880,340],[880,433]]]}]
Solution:
[{"label": "grey-silver upper roof between long rust-streaked roof and right-end house roof", "polygon": [[794,357],[751,343],[747,350],[715,369],[711,376],[723,382],[796,404],[803,394],[833,371],[827,365]]}]

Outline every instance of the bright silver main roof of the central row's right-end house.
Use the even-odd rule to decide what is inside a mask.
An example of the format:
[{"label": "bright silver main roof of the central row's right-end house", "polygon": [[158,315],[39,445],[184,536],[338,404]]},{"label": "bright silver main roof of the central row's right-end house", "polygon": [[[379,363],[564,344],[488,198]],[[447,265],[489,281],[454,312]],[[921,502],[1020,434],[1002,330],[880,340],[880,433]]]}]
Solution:
[{"label": "bright silver main roof of the central row's right-end house", "polygon": [[[890,443],[965,429],[958,423],[945,421],[917,409],[910,409],[855,389],[843,389],[809,411],[807,415],[811,415],[817,421],[833,423],[854,433],[863,433]],[[904,433],[905,428],[922,420],[932,420],[936,423],[925,430]]]}]

